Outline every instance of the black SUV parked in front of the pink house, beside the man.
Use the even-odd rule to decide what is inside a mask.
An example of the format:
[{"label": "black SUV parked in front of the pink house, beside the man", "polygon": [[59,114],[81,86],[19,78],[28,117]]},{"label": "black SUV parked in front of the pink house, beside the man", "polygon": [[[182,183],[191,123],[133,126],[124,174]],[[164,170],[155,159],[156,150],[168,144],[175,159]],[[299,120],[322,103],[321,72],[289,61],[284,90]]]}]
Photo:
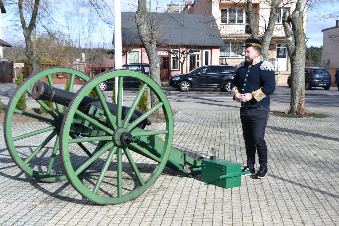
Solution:
[{"label": "black SUV parked in front of the pink house, beside the man", "polygon": [[202,66],[169,78],[168,85],[186,92],[191,88],[220,88],[231,92],[231,81],[237,72],[237,68],[226,65]]}]

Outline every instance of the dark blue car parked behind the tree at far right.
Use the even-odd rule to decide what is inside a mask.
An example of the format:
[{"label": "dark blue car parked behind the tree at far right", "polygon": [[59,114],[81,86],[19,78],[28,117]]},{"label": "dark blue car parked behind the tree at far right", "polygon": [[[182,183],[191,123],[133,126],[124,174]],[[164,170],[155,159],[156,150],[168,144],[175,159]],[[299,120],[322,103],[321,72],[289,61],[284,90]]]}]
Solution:
[{"label": "dark blue car parked behind the tree at far right", "polygon": [[[291,87],[291,76],[287,78],[288,87]],[[331,75],[325,68],[305,67],[305,89],[323,87],[328,90],[331,86]]]}]

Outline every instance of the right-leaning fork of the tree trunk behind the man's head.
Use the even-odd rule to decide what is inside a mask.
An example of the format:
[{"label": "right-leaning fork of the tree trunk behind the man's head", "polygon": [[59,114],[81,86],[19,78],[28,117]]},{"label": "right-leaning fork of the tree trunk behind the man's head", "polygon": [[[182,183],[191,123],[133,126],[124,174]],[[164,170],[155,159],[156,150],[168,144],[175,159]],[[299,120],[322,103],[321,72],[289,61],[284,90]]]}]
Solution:
[{"label": "right-leaning fork of the tree trunk behind the man's head", "polygon": [[261,56],[264,61],[268,61],[268,48],[270,47],[280,3],[281,3],[281,0],[271,1],[270,19],[268,20],[268,24],[264,31],[264,35],[262,37],[262,42],[261,42]]}]

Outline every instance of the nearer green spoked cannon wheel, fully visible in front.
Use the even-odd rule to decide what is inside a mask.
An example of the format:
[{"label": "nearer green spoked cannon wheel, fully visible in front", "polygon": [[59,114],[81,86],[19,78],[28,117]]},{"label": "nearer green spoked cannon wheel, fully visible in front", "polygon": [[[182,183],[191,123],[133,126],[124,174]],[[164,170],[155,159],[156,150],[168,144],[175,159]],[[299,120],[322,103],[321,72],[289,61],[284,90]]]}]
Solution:
[{"label": "nearer green spoked cannon wheel, fully visible in front", "polygon": [[[122,117],[122,84],[123,77],[129,76],[140,80],[143,85],[133,101],[128,113]],[[103,116],[106,121],[99,122],[95,117],[89,117],[77,108],[89,90],[95,89],[98,93],[99,84],[108,79],[118,77],[118,101],[115,114],[109,112],[103,95],[99,95]],[[133,122],[130,121],[142,94],[147,86],[153,90],[159,103],[142,114]],[[137,125],[149,115],[162,107],[166,127],[165,130],[145,131]],[[104,136],[69,139],[69,133],[74,117],[82,117],[92,125],[105,131]],[[165,167],[173,141],[173,115],[171,106],[160,86],[146,75],[131,70],[107,71],[87,81],[71,101],[61,126],[60,155],[64,173],[72,186],[87,199],[99,204],[118,204],[137,198],[146,191],[159,177]],[[160,135],[164,138],[161,145],[152,145],[152,136]],[[127,139],[128,138],[128,139]],[[131,143],[128,141],[134,140]],[[147,138],[147,139],[145,139]],[[148,147],[142,146],[150,138]],[[142,141],[144,139],[144,141]],[[102,141],[105,145],[88,160],[82,159],[77,151],[72,150],[75,142]],[[156,146],[157,145],[157,146]],[[156,146],[156,147],[155,147]],[[148,149],[150,148],[150,149]],[[156,149],[154,152],[149,150]],[[122,155],[124,153],[124,155]],[[115,156],[116,154],[116,156]],[[94,163],[88,168],[90,164]],[[88,168],[86,173],[79,175],[82,169]]]}]

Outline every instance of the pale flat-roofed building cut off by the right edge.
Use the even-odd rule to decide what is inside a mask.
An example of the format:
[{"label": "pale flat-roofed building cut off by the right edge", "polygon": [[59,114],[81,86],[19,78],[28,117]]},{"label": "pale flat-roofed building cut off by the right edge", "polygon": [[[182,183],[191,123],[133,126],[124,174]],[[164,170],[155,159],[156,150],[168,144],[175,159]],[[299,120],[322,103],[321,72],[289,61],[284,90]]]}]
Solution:
[{"label": "pale flat-roofed building cut off by the right edge", "polygon": [[321,67],[330,71],[332,87],[334,84],[337,69],[339,68],[339,20],[336,20],[336,26],[321,30],[323,32]]}]

